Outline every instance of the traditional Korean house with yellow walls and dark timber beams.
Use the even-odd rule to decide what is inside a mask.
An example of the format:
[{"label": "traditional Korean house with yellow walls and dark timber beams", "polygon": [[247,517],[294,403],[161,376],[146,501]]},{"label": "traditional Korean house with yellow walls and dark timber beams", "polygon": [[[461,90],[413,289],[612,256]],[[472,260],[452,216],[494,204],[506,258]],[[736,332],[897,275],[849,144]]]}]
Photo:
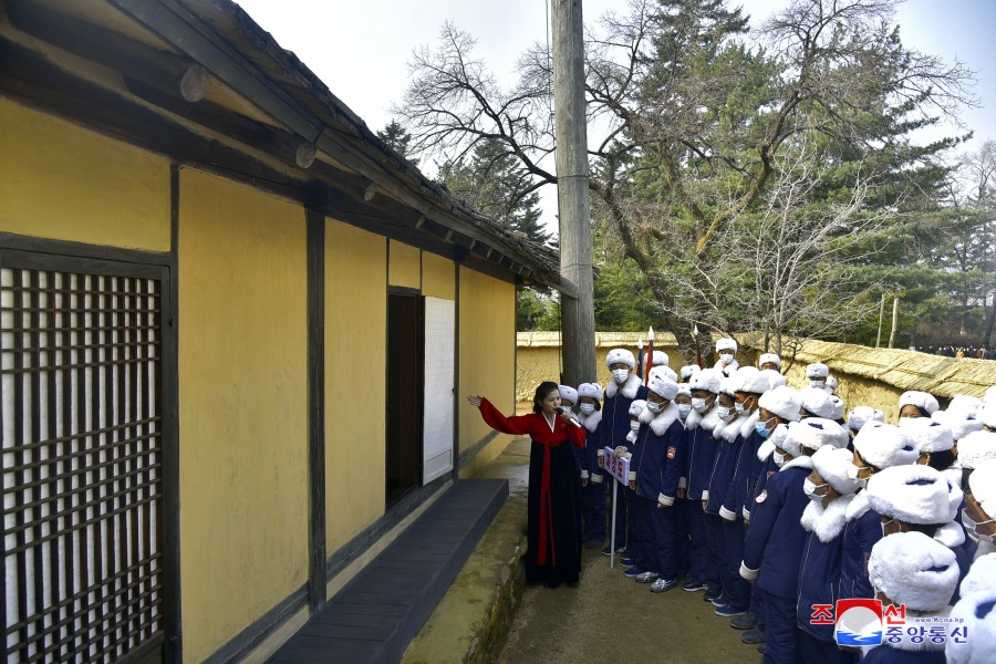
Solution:
[{"label": "traditional Korean house with yellow walls and dark timber beams", "polygon": [[251,658],[500,452],[557,255],[228,0],[0,12],[4,661]]}]

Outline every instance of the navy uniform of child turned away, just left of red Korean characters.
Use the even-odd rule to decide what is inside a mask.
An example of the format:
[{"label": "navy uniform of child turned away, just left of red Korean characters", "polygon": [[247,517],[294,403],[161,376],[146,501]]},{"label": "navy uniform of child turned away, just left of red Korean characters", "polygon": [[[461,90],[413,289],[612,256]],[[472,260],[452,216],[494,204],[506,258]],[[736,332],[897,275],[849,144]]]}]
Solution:
[{"label": "navy uniform of child turned away, just left of red Korean characters", "polygon": [[744,540],[740,575],[757,579],[767,644],[764,661],[768,664],[800,661],[796,595],[806,542],[800,519],[809,505],[802,483],[811,471],[810,458],[798,457],[766,479],[750,511],[750,527]]}]

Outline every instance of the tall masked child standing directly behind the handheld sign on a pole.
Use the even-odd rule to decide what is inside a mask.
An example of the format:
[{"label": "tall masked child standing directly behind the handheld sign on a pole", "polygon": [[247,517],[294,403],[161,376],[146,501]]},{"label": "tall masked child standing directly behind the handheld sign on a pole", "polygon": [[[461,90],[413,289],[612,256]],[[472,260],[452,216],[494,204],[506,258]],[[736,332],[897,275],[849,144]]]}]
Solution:
[{"label": "tall masked child standing directly behind the handheld sign on a pole", "polygon": [[[646,400],[646,387],[640,376],[633,373],[636,359],[625,349],[613,349],[605,356],[605,365],[612,373],[612,380],[605,385],[605,403],[602,406],[602,423],[599,426],[601,442],[599,453],[605,447],[615,449],[624,444],[630,433],[630,404],[633,400]],[[615,510],[615,550],[622,552],[626,546],[626,487],[620,486]],[[604,556],[611,553],[612,547],[602,550]]]}]

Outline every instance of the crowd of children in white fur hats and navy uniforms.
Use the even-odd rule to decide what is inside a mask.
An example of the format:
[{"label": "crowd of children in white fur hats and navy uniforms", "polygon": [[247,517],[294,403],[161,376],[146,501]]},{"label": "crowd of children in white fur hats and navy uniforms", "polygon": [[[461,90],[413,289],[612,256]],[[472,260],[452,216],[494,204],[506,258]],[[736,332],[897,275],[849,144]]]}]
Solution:
[{"label": "crowd of children in white fur hats and navy uniforms", "polygon": [[[996,387],[945,409],[906,392],[886,424],[870,406],[845,416],[826,364],[796,390],[778,355],[739,366],[734,340],[716,350],[679,373],[656,351],[644,384],[615,349],[604,393],[560,386],[587,430],[584,544],[606,539],[604,455],[625,457],[602,552],[651,592],[704,591],[765,662],[996,662]],[[886,608],[878,647],[841,639],[850,599]]]}]

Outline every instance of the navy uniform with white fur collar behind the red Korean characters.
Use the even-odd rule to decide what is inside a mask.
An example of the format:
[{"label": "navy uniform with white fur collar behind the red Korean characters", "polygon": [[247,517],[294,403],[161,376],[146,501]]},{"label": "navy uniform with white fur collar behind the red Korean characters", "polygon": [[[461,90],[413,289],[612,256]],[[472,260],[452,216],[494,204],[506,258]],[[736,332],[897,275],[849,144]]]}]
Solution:
[{"label": "navy uniform with white fur collar behind the red Korean characters", "polygon": [[799,623],[799,653],[803,662],[855,662],[854,653],[837,647],[833,623],[813,624],[813,606],[837,605],[840,590],[840,564],[843,558],[843,529],[848,506],[854,495],[841,496],[826,508],[810,501],[802,512],[807,530],[799,566],[799,600],[796,619]]}]

